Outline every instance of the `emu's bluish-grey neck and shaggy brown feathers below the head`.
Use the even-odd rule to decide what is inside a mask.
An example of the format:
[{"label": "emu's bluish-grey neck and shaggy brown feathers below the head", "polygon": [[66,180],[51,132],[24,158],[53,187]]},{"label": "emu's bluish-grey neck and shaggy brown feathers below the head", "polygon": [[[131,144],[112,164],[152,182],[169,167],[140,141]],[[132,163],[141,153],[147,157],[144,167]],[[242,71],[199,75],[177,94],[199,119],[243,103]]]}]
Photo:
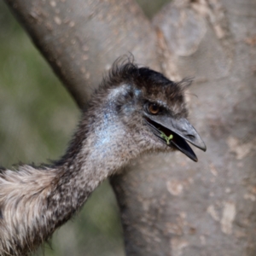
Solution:
[{"label": "emu's bluish-grey neck and shaggy brown feathers below the head", "polygon": [[84,113],[67,153],[55,166],[0,172],[0,255],[26,255],[36,249],[83,206],[99,183],[137,154],[130,131],[107,104]]}]

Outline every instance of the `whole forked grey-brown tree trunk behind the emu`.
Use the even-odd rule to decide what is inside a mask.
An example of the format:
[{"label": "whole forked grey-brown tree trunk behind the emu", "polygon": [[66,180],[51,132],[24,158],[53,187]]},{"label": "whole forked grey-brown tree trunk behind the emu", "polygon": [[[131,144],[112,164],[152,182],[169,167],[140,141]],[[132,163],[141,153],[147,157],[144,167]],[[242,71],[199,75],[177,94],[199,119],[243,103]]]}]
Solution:
[{"label": "whole forked grey-brown tree trunk behind the emu", "polygon": [[6,2],[79,106],[128,51],[195,78],[190,121],[207,154],[144,156],[112,179],[127,255],[255,255],[255,1],[175,1],[154,28],[128,0]]}]

